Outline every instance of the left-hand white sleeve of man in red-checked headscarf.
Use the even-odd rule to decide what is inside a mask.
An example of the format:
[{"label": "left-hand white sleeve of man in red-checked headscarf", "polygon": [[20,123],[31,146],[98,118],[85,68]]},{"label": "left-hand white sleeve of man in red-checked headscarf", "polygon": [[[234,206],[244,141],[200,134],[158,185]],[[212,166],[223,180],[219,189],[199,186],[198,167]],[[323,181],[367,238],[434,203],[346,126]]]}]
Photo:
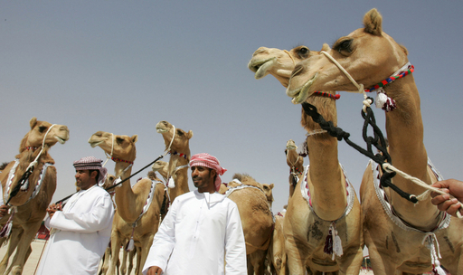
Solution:
[{"label": "left-hand white sleeve of man in red-checked headscarf", "polygon": [[143,274],[146,275],[152,266],[160,267],[165,272],[167,261],[175,247],[175,217],[178,209],[178,199],[169,207],[161,226],[156,232],[153,244],[146,258]]}]

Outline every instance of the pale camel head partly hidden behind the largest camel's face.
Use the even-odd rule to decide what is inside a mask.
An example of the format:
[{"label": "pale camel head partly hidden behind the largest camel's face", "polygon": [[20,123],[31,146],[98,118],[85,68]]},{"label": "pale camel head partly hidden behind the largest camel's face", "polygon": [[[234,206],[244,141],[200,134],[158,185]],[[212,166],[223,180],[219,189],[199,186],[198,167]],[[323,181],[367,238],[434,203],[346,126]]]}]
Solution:
[{"label": "pale camel head partly hidden behind the largest camel's face", "polygon": [[255,72],[256,80],[271,74],[287,88],[296,64],[307,59],[311,54],[306,46],[298,46],[291,51],[260,47],[252,53],[248,68]]}]

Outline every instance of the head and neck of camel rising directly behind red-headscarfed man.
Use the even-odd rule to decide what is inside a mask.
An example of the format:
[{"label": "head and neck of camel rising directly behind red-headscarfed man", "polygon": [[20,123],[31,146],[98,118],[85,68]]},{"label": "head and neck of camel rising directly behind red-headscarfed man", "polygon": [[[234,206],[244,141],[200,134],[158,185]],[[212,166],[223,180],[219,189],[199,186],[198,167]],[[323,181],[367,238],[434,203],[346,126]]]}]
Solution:
[{"label": "head and neck of camel rising directly behind red-headscarfed man", "polygon": [[174,125],[165,120],[156,124],[156,131],[163,135],[165,151],[170,154],[168,193],[172,204],[177,196],[190,192],[190,188],[188,188],[189,141],[193,137],[193,131],[185,132],[181,128],[175,128]]}]

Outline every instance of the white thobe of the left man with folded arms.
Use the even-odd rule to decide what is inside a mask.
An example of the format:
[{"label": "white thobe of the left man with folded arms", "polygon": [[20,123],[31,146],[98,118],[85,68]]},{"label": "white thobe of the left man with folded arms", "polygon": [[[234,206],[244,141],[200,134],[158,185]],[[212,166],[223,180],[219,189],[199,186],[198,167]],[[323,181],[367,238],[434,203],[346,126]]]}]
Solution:
[{"label": "white thobe of the left man with folded arms", "polygon": [[97,274],[109,244],[114,207],[98,185],[73,194],[62,211],[47,218],[53,228],[36,274]]}]

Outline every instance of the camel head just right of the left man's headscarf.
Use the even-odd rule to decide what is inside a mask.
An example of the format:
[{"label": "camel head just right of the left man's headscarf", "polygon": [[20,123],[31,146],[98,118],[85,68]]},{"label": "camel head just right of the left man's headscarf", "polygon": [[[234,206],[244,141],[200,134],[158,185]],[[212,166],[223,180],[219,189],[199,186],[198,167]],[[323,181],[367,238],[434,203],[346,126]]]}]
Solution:
[{"label": "camel head just right of the left man's headscarf", "polygon": [[[98,131],[91,135],[89,143],[91,147],[100,147],[109,156],[125,161],[133,162],[137,157],[135,143],[138,136],[113,135],[108,132]],[[111,155],[112,153],[112,155]]]}]

